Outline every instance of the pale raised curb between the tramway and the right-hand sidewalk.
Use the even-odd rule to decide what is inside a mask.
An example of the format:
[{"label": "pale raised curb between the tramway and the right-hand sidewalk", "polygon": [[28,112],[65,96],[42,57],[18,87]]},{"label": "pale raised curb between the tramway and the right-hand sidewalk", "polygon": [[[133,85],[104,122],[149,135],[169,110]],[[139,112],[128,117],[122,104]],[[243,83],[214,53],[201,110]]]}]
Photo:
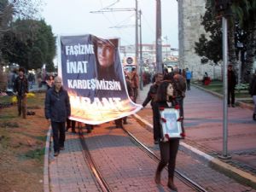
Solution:
[{"label": "pale raised curb between the tramway and the right-hand sidewalk", "polygon": [[[153,129],[153,125],[148,123],[148,121],[146,121],[139,115],[133,114],[133,116],[135,119],[137,119],[137,121],[141,125],[143,125],[147,128]],[[224,174],[226,174],[229,177],[233,177],[238,182],[247,184],[248,186],[252,187],[253,189],[256,189],[256,177],[253,176],[252,174],[250,174],[248,172],[241,171],[240,169],[236,168],[235,166],[230,166],[229,164],[227,164],[221,160],[218,160],[217,158],[212,157],[209,154],[205,154],[204,152],[202,152],[202,151],[198,150],[197,148],[194,148],[186,143],[180,142],[180,145],[183,148],[189,150],[190,152],[192,152],[196,155],[199,155],[204,160],[207,160],[207,163],[209,163],[209,165],[212,166],[212,168],[215,168],[221,172],[224,172]]]}]

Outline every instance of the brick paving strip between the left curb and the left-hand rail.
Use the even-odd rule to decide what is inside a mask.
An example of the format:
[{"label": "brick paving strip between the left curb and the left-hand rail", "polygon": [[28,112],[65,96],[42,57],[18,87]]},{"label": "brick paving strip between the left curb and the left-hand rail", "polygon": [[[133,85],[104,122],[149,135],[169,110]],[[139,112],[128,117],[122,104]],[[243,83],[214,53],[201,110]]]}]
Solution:
[{"label": "brick paving strip between the left curb and the left-hand rail", "polygon": [[79,136],[67,133],[65,150],[58,157],[49,154],[49,187],[51,192],[96,192],[94,177],[84,161]]}]

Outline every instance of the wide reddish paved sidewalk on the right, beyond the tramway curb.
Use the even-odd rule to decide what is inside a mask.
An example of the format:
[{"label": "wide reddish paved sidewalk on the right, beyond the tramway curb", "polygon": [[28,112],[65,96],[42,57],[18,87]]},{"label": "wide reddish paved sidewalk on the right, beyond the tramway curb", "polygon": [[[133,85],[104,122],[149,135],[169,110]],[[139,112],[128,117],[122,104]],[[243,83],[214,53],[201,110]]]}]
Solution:
[{"label": "wide reddish paved sidewalk on the right, beyond the tramway curb", "polygon": [[[137,99],[143,103],[149,84],[140,90]],[[214,166],[230,176],[244,179],[243,182],[256,186],[256,122],[252,119],[252,110],[247,108],[229,108],[228,110],[228,153],[231,160],[220,160],[223,153],[223,101],[203,90],[191,87],[184,99],[184,125],[186,139],[183,146],[211,160]],[[150,104],[137,113],[152,126]],[[189,144],[189,145],[188,145]]]}]

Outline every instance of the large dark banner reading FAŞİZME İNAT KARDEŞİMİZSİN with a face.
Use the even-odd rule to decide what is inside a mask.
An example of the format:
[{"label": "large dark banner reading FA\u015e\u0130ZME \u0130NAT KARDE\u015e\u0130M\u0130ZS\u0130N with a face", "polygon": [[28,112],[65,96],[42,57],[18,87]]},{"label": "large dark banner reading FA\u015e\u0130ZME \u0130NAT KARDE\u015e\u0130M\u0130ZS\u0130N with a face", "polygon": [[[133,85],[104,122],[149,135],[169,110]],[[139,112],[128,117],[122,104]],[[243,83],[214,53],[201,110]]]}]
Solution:
[{"label": "large dark banner reading FA\u015e\u0130ZME \u0130NAT KARDE\u015e\u0130M\u0130ZS\u0130N with a face", "polygon": [[127,94],[118,38],[61,36],[59,43],[58,73],[70,98],[69,119],[97,125],[142,108]]}]

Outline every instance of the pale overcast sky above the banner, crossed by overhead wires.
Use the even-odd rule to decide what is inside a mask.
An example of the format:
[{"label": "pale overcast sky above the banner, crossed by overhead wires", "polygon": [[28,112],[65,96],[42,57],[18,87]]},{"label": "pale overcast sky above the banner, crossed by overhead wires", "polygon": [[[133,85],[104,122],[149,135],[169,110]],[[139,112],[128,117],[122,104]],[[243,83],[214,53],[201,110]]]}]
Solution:
[{"label": "pale overcast sky above the banner, crossed by overhead wires", "polygon": [[[91,33],[101,38],[120,38],[122,45],[135,44],[135,27],[131,27],[135,24],[134,11],[90,13],[113,3],[114,5],[109,8],[135,8],[135,0],[45,0],[45,2],[42,15],[47,24],[52,26],[55,35]],[[155,41],[155,5],[156,0],[138,0],[138,9],[143,12],[143,44],[153,44]],[[172,48],[177,48],[177,1],[161,0],[161,8],[162,37],[167,37],[167,43],[171,44]]]}]

